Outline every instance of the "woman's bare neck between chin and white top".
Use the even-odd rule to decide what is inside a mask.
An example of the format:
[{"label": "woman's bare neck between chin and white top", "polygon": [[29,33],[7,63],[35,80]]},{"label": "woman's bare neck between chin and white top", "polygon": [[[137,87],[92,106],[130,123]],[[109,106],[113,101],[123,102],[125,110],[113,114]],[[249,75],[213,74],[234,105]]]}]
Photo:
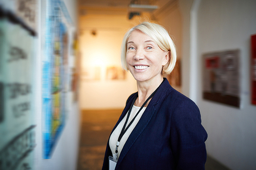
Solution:
[{"label": "woman's bare neck between chin and white top", "polygon": [[[138,98],[136,99],[134,105],[141,107],[147,98],[159,87],[162,81],[163,77],[151,82],[137,82]],[[150,103],[150,101],[148,101],[144,107],[146,107],[148,103]]]}]

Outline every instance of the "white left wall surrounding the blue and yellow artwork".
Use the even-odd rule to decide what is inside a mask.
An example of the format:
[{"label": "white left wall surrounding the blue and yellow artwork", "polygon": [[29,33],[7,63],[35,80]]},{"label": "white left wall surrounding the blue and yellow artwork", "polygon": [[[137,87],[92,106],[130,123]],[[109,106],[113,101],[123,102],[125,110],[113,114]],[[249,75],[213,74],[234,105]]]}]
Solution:
[{"label": "white left wall surrounding the blue and yellow artwork", "polygon": [[[74,28],[77,28],[77,1],[65,0],[63,1],[69,11],[70,17],[73,21]],[[43,169],[59,169],[70,170],[76,169],[78,159],[78,147],[80,136],[80,110],[78,103],[72,103],[70,110],[67,113],[65,126],[56,141],[56,147],[52,152],[50,159],[43,159],[43,138],[42,138],[42,124],[44,123],[42,115],[42,101],[41,101],[41,77],[42,77],[42,54],[41,42],[44,39],[44,32],[42,31],[41,23],[45,19],[44,15],[41,15],[42,7],[44,7],[43,0],[38,0],[38,45],[37,45],[37,59],[35,61],[35,124],[36,124],[36,147],[34,149],[34,168],[38,170]],[[69,92],[70,100],[72,98],[72,92]]]}]

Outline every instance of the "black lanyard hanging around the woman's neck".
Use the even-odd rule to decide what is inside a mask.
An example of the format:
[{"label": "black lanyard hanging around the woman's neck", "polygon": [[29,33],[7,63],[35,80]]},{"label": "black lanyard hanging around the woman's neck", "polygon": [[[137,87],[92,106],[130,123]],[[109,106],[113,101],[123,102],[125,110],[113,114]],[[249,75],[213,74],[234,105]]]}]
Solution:
[{"label": "black lanyard hanging around the woman's neck", "polygon": [[[163,83],[163,81],[162,81],[162,83]],[[161,84],[162,84],[162,83],[161,83]],[[160,85],[161,85],[161,84],[160,84]],[[120,142],[121,138],[123,137],[123,135],[124,135],[124,133],[127,131],[127,129],[133,124],[135,118],[137,117],[137,115],[139,114],[139,112],[143,109],[143,107],[146,105],[146,103],[147,103],[147,102],[153,97],[153,95],[157,92],[157,90],[158,90],[158,88],[160,87],[160,85],[159,85],[159,86],[157,87],[157,89],[147,98],[147,100],[146,100],[146,101],[143,103],[143,105],[140,107],[140,110],[136,113],[136,115],[134,116],[134,118],[131,120],[130,124],[125,128],[125,126],[126,126],[126,124],[127,124],[127,122],[128,122],[128,119],[129,119],[129,117],[130,117],[130,114],[131,114],[133,105],[134,105],[136,99],[138,98],[138,93],[137,93],[137,95],[134,97],[133,102],[132,102],[132,104],[131,104],[131,106],[130,106],[129,112],[128,112],[128,114],[127,114],[125,123],[124,123],[124,125],[123,125],[123,128],[122,128],[122,130],[121,130],[121,133],[120,133],[120,135],[119,135],[119,137],[118,137],[118,140],[117,140],[117,142],[116,142],[116,151],[115,151],[115,153],[116,153],[116,155],[115,155],[116,160],[117,160],[117,157],[118,157],[118,150],[117,150],[117,149],[118,149],[118,147],[119,147],[119,142]]]}]

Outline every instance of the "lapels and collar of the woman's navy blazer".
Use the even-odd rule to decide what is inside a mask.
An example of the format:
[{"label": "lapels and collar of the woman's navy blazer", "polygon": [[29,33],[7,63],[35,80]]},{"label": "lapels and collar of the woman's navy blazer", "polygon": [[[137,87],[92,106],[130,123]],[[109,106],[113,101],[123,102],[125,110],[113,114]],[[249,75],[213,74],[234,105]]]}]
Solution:
[{"label": "lapels and collar of the woman's navy blazer", "polygon": [[[134,144],[134,142],[136,141],[136,139],[140,136],[140,134],[143,132],[143,130],[145,129],[147,124],[150,122],[150,120],[151,120],[151,118],[154,115],[155,110],[156,110],[155,105],[157,105],[159,103],[159,101],[161,100],[161,97],[164,95],[164,93],[167,90],[170,89],[169,82],[166,80],[166,78],[164,78],[163,81],[164,82],[161,84],[161,86],[159,87],[159,89],[157,90],[157,92],[155,93],[153,98],[151,99],[150,103],[147,105],[147,108],[144,111],[144,113],[142,114],[138,124],[136,125],[136,127],[132,131],[132,133],[129,136],[129,138],[127,139],[127,141],[125,142],[125,144],[123,146],[123,149],[122,149],[122,152],[119,155],[116,168],[118,168],[118,166],[121,163],[124,156],[131,149],[131,147]],[[125,114],[129,110],[129,108],[132,104],[132,101],[133,101],[134,97],[137,95],[137,93],[138,92],[136,92],[136,93],[134,93],[130,96],[130,100],[127,102],[127,104],[126,104],[126,106],[125,106],[125,108],[124,108],[116,126],[119,124],[119,122],[123,119],[123,117],[125,116]],[[114,127],[114,129],[116,128],[116,126]]]}]

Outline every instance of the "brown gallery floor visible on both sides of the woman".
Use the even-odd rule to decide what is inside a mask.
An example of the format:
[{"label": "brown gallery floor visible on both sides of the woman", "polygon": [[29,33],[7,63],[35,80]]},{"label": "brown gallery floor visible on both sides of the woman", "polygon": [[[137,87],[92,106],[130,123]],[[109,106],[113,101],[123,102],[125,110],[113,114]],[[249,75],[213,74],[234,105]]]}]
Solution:
[{"label": "brown gallery floor visible on both sides of the woman", "polygon": [[[84,110],[81,112],[81,136],[78,156],[78,170],[101,169],[109,135],[122,109]],[[207,157],[206,170],[229,170],[218,161]]]}]

